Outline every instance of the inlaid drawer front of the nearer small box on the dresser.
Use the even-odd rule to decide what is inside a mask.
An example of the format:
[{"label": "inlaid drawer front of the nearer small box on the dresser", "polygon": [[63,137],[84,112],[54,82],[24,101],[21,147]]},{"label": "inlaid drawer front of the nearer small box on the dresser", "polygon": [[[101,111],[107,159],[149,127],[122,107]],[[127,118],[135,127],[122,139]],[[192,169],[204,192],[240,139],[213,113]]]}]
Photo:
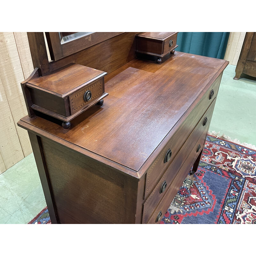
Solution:
[{"label": "inlaid drawer front of the nearer small box on the dresser", "polygon": [[[104,78],[100,78],[69,96],[70,110],[72,115],[86,107],[93,100],[98,99],[103,94],[103,79]],[[84,100],[84,94],[87,91],[91,91],[91,99],[88,101]]]}]

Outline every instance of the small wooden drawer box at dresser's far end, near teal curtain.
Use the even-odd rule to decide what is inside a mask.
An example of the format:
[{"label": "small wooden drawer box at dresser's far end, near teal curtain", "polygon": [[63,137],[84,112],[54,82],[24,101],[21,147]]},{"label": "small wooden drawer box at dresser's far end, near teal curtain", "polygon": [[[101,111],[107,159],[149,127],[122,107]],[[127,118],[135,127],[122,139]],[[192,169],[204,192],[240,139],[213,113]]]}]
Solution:
[{"label": "small wooden drawer box at dresser's far end, near teal curtain", "polygon": [[136,35],[136,52],[156,56],[156,62],[161,63],[162,57],[174,53],[178,32],[145,32]]}]

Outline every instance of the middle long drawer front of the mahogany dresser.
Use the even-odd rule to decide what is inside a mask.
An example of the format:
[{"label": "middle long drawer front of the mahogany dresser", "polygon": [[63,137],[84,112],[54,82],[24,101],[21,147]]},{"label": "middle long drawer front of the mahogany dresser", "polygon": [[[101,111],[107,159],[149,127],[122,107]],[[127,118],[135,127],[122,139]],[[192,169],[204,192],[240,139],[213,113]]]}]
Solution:
[{"label": "middle long drawer front of the mahogany dresser", "polygon": [[[172,183],[174,177],[176,176],[177,172],[179,171],[180,167],[185,162],[186,158],[188,157],[188,152],[193,152],[190,157],[196,159],[197,155],[201,152],[204,148],[204,144],[200,143],[200,150],[199,152],[193,151],[193,148],[198,147],[197,141],[206,137],[208,132],[208,126],[212,118],[212,113],[215,105],[215,100],[212,102],[211,106],[207,109],[204,113],[203,117],[197,124],[196,128],[188,137],[188,140],[184,143],[180,151],[178,152],[175,159],[172,161],[166,172],[164,173],[163,177],[157,183],[156,187],[154,188],[153,192],[148,197],[147,201],[144,203],[143,209],[143,223],[147,223],[152,212],[155,210],[157,204],[159,204],[160,200],[165,195],[167,188]],[[205,120],[207,121],[205,123]],[[187,170],[189,172],[189,169]],[[163,191],[163,187],[165,190]]]}]

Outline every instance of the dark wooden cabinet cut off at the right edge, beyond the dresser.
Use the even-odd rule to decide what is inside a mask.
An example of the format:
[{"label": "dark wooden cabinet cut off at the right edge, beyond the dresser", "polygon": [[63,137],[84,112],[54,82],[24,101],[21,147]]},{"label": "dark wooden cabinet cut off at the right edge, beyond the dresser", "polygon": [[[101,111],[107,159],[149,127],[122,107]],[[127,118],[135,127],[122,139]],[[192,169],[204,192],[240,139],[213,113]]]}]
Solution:
[{"label": "dark wooden cabinet cut off at the right edge, beyond the dresser", "polygon": [[238,80],[242,73],[256,77],[256,32],[247,32],[245,34],[234,79]]}]

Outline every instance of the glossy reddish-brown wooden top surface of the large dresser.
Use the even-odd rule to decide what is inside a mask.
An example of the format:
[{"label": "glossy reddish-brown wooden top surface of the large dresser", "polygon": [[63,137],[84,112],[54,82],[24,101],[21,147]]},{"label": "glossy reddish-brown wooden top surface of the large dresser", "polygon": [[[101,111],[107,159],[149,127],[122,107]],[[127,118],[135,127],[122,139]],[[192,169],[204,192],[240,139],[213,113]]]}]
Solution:
[{"label": "glossy reddish-brown wooden top surface of the large dresser", "polygon": [[76,117],[71,128],[28,116],[19,125],[27,123],[28,130],[38,127],[138,171],[227,64],[226,60],[182,52],[168,55],[161,64],[133,60],[105,77],[109,95],[103,106]]}]

